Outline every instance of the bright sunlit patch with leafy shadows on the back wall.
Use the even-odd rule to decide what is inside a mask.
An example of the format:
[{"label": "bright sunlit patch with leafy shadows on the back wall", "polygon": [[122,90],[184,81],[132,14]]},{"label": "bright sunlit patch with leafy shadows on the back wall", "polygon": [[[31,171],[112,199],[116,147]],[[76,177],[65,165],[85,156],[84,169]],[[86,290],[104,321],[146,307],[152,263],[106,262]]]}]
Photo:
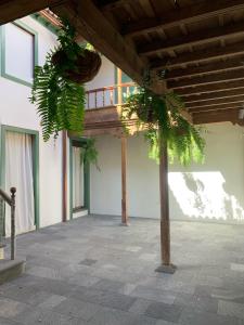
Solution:
[{"label": "bright sunlit patch with leafy shadows on the back wall", "polygon": [[169,172],[169,187],[175,219],[244,222],[243,190],[220,171]]}]

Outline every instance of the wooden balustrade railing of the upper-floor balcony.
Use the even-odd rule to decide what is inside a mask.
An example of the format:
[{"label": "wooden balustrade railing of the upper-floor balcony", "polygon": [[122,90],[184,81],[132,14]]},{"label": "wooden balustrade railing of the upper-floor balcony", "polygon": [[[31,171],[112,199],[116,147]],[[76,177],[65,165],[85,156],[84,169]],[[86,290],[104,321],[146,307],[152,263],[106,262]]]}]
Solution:
[{"label": "wooden balustrade railing of the upper-floor balcony", "polygon": [[[86,92],[87,109],[121,105],[126,98],[137,89],[136,83],[127,82],[88,90]],[[119,99],[121,99],[121,103],[119,103]]]}]

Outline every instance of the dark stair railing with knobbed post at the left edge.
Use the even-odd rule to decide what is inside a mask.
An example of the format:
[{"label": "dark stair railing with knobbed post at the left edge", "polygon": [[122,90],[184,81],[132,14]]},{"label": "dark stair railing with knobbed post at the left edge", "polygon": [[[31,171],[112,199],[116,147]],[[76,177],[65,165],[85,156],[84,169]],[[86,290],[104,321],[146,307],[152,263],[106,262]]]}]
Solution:
[{"label": "dark stair railing with knobbed post at the left edge", "polygon": [[[11,187],[10,192],[11,192],[11,196],[9,194],[7,194],[3,190],[0,188],[0,214],[2,214],[1,219],[3,221],[3,213],[4,213],[3,206],[4,206],[4,202],[5,202],[11,208],[11,260],[14,260],[15,259],[15,193],[16,193],[16,188]],[[1,231],[3,232],[3,227]]]}]

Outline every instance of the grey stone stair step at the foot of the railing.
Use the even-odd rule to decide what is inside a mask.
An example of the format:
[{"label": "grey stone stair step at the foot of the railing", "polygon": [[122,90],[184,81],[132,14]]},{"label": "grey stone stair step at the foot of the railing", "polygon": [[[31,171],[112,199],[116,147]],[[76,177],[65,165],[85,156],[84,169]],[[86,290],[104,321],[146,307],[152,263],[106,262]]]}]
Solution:
[{"label": "grey stone stair step at the foot of the railing", "polygon": [[25,261],[0,260],[0,284],[9,282],[25,272]]}]

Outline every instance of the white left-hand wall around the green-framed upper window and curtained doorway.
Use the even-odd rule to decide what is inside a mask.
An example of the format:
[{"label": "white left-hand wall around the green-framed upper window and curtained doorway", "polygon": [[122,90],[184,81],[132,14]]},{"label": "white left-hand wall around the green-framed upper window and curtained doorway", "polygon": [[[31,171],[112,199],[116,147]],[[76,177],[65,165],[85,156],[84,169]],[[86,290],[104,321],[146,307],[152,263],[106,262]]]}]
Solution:
[{"label": "white left-hand wall around the green-framed upper window and curtained doorway", "polygon": [[[31,17],[22,20],[38,32],[39,64],[55,44],[55,35]],[[17,49],[16,49],[17,60]],[[40,131],[36,108],[29,103],[30,87],[0,77],[0,123]],[[62,219],[61,138],[43,143],[40,132],[40,226]]]}]

